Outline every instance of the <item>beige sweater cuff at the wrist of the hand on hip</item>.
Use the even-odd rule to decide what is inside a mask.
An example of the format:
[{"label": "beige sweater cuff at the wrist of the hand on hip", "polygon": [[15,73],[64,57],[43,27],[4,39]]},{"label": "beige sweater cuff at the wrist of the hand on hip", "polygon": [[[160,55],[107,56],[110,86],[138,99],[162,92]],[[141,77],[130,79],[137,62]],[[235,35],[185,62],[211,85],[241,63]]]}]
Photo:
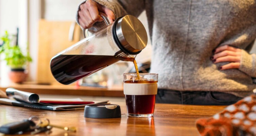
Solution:
[{"label": "beige sweater cuff at the wrist of the hand on hip", "polygon": [[255,78],[256,77],[256,54],[249,54],[245,50],[242,50],[239,70]]}]

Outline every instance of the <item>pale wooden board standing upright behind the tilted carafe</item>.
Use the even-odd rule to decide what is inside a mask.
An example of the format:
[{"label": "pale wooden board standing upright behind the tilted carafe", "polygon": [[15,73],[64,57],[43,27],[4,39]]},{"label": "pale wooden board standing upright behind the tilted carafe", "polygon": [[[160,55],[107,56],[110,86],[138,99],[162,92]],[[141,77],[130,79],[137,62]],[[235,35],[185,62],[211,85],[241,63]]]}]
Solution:
[{"label": "pale wooden board standing upright behind the tilted carafe", "polygon": [[[74,24],[75,27],[72,27]],[[73,40],[70,40],[69,31],[74,31]],[[37,81],[39,83],[58,83],[51,74],[50,60],[57,53],[78,42],[80,40],[81,33],[82,31],[80,26],[75,22],[39,21],[37,64]]]}]

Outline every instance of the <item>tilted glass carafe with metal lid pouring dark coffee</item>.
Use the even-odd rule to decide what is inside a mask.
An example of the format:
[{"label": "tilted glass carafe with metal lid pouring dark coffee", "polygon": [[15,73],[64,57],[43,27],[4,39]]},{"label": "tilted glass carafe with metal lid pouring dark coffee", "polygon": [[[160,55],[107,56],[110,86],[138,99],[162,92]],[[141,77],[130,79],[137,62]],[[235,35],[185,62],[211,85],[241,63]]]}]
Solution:
[{"label": "tilted glass carafe with metal lid pouring dark coffee", "polygon": [[134,16],[127,15],[109,23],[105,14],[100,14],[106,25],[52,57],[50,68],[54,78],[62,84],[73,83],[113,63],[131,61],[147,44],[143,24]]}]

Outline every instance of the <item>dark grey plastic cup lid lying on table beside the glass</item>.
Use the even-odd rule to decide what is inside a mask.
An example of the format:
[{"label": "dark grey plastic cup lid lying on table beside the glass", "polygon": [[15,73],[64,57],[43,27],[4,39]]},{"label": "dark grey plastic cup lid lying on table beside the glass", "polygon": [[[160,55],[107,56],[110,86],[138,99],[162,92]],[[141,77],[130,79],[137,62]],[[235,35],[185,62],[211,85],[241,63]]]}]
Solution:
[{"label": "dark grey plastic cup lid lying on table beside the glass", "polygon": [[86,118],[119,118],[121,109],[116,104],[89,104],[84,108]]}]

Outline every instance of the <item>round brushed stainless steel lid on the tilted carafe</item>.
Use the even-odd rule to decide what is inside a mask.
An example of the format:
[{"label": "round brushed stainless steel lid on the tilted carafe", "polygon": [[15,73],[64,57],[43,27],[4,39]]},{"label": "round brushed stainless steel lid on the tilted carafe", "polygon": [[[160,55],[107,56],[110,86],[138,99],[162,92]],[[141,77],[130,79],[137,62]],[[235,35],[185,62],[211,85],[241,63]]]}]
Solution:
[{"label": "round brushed stainless steel lid on the tilted carafe", "polygon": [[147,45],[147,32],[139,19],[127,15],[117,20],[115,27],[119,43],[129,52],[138,53]]}]

